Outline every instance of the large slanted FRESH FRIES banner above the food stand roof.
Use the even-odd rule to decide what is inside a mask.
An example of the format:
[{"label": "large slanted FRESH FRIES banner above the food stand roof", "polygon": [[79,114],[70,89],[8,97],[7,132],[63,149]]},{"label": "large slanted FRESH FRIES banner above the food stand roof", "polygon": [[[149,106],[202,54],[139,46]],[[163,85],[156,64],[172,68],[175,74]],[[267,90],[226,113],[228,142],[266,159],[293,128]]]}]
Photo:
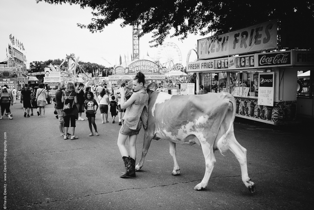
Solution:
[{"label": "large slanted FRESH FRIES banner above the food stand roof", "polygon": [[198,59],[277,48],[277,20],[198,40]]}]

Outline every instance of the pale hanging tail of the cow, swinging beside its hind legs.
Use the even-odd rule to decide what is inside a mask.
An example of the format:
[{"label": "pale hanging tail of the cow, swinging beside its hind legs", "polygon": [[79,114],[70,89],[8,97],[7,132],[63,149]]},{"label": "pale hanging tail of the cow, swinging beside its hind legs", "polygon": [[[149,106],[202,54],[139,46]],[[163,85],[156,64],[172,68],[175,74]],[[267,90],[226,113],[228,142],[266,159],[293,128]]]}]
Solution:
[{"label": "pale hanging tail of the cow, swinging beside its hind legs", "polygon": [[[231,114],[231,113],[232,114]],[[225,115],[225,118],[223,120],[223,122],[220,125],[219,128],[219,133],[223,133],[222,136],[218,139],[217,141],[217,148],[220,151],[220,154],[224,155],[223,152],[227,151],[229,149],[228,145],[228,139],[227,139],[227,135],[230,133],[232,126],[233,126],[233,122],[236,118],[236,102],[235,100],[231,100],[229,99],[229,107],[228,107],[228,111]],[[230,123],[228,125],[228,123]],[[226,129],[228,129],[227,131],[225,131]]]}]

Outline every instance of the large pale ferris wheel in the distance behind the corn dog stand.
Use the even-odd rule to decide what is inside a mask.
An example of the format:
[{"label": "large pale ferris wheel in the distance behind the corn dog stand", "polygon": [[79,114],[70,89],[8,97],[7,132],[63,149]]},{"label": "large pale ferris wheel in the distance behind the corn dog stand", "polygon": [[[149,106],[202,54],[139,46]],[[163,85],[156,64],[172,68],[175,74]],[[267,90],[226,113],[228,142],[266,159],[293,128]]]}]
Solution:
[{"label": "large pale ferris wheel in the distance behind the corn dog stand", "polygon": [[182,65],[182,54],[175,43],[167,42],[159,47],[157,60],[170,71],[176,68],[176,64]]}]

